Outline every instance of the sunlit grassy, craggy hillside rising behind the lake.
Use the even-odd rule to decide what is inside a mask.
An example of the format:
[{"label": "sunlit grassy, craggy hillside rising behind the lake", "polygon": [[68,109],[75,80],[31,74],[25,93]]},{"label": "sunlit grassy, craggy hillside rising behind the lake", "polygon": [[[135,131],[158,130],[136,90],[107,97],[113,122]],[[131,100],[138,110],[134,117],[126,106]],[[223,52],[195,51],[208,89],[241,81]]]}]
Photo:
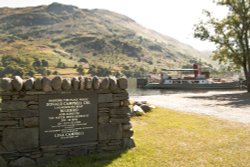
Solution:
[{"label": "sunlit grassy, craggy hillside rising behind the lake", "polygon": [[39,59],[49,67],[82,64],[128,76],[202,60],[194,48],[126,16],[59,3],[0,8],[0,45],[0,57],[17,55],[30,65]]}]

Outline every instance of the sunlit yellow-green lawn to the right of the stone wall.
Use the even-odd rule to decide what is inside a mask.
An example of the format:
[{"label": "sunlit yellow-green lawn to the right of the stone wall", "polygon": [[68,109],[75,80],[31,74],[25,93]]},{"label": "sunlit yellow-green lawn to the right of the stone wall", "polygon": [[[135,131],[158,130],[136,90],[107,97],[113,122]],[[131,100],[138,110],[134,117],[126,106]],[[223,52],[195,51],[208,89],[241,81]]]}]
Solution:
[{"label": "sunlit yellow-green lawn to the right of the stone wall", "polygon": [[136,148],[50,167],[250,166],[249,125],[155,109],[132,118]]}]

